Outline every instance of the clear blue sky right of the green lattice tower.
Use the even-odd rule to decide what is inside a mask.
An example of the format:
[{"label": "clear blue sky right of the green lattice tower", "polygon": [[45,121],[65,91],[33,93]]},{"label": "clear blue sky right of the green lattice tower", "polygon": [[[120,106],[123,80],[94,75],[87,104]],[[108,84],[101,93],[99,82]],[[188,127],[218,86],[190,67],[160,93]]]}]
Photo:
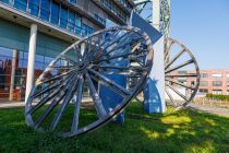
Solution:
[{"label": "clear blue sky right of the green lattice tower", "polygon": [[229,69],[229,0],[171,0],[170,36],[201,69]]}]

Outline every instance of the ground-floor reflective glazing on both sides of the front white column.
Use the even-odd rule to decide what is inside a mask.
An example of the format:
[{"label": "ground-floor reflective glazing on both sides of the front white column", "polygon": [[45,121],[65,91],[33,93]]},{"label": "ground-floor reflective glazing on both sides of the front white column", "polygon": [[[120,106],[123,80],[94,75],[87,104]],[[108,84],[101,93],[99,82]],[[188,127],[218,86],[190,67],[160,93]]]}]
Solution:
[{"label": "ground-floor reflective glazing on both sides of the front white column", "polygon": [[[35,55],[35,80],[52,60],[51,57]],[[0,98],[9,98],[10,96],[13,61],[15,61],[13,99],[23,101],[25,97],[28,52],[16,51],[13,59],[13,50],[4,47],[0,47]],[[63,64],[63,61],[60,60],[57,64]],[[55,74],[55,72],[51,72],[51,74]]]}]

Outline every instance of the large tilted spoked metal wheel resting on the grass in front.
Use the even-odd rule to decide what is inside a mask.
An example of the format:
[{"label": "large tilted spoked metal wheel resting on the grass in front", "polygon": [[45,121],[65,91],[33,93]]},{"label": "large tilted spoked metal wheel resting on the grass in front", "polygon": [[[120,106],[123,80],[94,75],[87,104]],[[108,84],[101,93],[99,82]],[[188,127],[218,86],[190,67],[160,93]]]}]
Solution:
[{"label": "large tilted spoked metal wheel resting on the grass in front", "polygon": [[[150,39],[138,28],[94,33],[61,52],[38,78],[26,102],[26,123],[64,138],[93,131],[125,108],[142,90],[152,64]],[[132,87],[118,81],[131,76],[138,78]],[[110,97],[101,89],[120,103],[105,101]]]}]

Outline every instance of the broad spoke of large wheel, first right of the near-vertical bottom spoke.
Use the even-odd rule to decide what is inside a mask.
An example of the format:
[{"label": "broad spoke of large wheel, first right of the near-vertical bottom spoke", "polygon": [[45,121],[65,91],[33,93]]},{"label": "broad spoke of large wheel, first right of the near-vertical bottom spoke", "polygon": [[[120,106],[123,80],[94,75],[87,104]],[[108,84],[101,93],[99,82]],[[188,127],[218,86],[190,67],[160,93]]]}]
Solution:
[{"label": "broad spoke of large wheel, first right of the near-vertical bottom spoke", "polygon": [[86,80],[87,80],[87,85],[88,85],[88,89],[89,89],[89,94],[93,97],[93,101],[94,101],[95,106],[96,106],[98,117],[99,118],[105,118],[107,116],[107,113],[105,110],[105,107],[103,106],[101,99],[100,99],[100,97],[99,97],[99,95],[96,91],[96,87],[95,87],[88,72],[86,72]]}]

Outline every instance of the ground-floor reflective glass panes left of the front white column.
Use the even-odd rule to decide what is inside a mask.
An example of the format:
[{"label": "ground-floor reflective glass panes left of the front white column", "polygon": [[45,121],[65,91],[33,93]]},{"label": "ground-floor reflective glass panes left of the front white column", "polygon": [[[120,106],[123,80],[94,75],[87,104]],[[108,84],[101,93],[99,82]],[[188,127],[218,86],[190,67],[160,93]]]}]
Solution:
[{"label": "ground-floor reflective glass panes left of the front white column", "polygon": [[15,62],[13,99],[22,101],[25,96],[27,52],[17,51],[13,59],[13,50],[0,47],[0,98],[10,96],[12,62]]}]

